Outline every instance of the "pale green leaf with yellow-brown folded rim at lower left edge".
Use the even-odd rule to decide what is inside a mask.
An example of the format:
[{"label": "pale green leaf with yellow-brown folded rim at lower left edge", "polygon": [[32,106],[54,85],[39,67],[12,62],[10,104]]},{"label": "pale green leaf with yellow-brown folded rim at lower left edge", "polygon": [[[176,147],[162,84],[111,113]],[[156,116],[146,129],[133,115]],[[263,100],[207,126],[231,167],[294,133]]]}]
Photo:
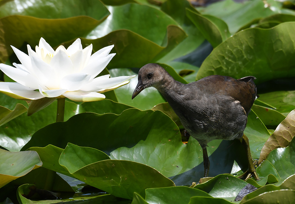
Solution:
[{"label": "pale green leaf with yellow-brown folded rim at lower left edge", "polygon": [[0,149],[0,188],[42,166],[35,151],[9,152]]}]

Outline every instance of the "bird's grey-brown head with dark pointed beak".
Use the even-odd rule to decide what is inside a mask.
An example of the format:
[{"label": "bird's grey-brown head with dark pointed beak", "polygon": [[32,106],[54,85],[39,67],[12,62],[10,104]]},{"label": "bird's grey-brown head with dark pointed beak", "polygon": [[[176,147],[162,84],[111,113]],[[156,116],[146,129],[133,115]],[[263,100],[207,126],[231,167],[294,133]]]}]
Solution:
[{"label": "bird's grey-brown head with dark pointed beak", "polygon": [[150,63],[140,68],[138,72],[138,83],[132,94],[132,99],[145,88],[152,86],[158,88],[163,84],[163,80],[167,74],[165,69],[158,64]]}]

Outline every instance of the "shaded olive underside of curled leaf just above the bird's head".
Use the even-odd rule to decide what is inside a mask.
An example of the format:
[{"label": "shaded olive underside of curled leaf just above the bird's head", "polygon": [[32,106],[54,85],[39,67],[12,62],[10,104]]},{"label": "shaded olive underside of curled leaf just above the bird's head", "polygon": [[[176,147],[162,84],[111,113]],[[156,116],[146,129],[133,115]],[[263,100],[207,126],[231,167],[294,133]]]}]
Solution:
[{"label": "shaded olive underside of curled leaf just above the bird's head", "polygon": [[[125,20],[128,21],[128,19]],[[182,29],[171,25],[167,27],[165,42],[160,45],[129,30],[117,30],[99,39],[81,39],[81,41],[84,45],[93,44],[94,51],[114,44],[112,52],[116,53],[116,55],[108,64],[108,68],[130,68],[142,67],[147,63],[157,62],[159,58],[170,52],[185,37],[186,34]],[[72,42],[68,42],[67,45]]]}]

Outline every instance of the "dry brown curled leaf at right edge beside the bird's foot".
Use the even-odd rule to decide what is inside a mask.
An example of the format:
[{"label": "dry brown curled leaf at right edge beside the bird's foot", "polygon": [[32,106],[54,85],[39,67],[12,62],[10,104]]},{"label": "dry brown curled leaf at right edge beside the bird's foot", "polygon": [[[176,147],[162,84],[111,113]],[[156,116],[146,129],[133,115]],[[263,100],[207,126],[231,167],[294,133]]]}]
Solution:
[{"label": "dry brown curled leaf at right edge beside the bird's foot", "polygon": [[264,144],[259,157],[258,165],[266,159],[267,155],[274,149],[289,146],[295,135],[295,110],[276,128],[274,133],[268,138]]}]

